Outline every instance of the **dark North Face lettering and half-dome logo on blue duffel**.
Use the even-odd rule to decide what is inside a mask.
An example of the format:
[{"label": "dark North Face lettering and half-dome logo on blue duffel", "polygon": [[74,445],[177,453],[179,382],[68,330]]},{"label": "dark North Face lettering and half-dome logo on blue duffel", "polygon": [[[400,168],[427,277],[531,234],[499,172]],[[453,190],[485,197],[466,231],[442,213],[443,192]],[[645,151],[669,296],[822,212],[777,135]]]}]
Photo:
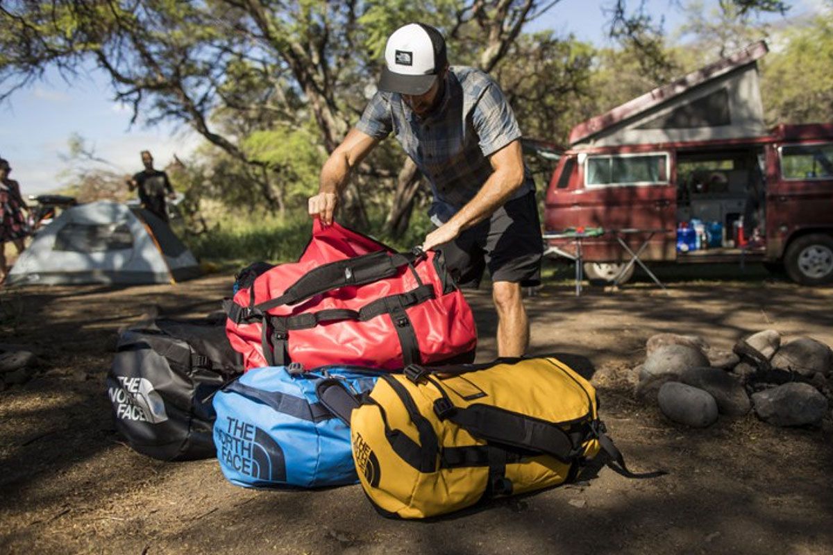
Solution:
[{"label": "dark North Face lettering and half-dome logo on blue duffel", "polygon": [[253,424],[226,418],[214,428],[219,453],[227,468],[265,482],[286,482],[287,465],[283,449],[269,434]]}]

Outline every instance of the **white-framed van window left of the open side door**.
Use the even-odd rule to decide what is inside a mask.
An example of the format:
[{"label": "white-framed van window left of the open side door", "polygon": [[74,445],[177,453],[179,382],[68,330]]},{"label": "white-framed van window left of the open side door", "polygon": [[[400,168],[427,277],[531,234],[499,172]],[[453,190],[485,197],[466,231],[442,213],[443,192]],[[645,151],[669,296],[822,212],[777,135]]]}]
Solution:
[{"label": "white-framed van window left of the open side door", "polygon": [[588,187],[666,185],[668,154],[587,156],[584,175]]}]

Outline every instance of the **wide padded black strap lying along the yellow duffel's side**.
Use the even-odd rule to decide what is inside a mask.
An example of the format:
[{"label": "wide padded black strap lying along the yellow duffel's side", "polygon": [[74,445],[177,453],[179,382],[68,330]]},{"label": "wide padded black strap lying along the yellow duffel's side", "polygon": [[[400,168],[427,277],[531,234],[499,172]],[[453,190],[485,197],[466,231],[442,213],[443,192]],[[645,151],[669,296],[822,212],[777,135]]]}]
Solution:
[{"label": "wide padded black strap lying along the yellow duffel's side", "polygon": [[486,404],[450,409],[441,418],[451,420],[477,438],[496,444],[540,451],[563,463],[571,463],[576,458],[570,436],[551,422]]}]

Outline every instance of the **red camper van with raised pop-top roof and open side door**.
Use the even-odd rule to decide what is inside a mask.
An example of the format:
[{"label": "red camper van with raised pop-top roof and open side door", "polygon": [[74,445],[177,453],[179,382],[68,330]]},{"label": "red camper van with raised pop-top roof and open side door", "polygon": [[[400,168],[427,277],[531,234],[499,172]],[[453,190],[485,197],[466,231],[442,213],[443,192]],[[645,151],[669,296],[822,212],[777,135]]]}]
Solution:
[{"label": "red camper van with raised pop-top roof and open side door", "polygon": [[742,257],[833,283],[833,124],[766,130],[756,64],[766,52],[753,44],[571,131],[545,227],[605,230],[582,241],[591,280],[630,277],[618,237],[632,250],[647,240],[646,262]]}]

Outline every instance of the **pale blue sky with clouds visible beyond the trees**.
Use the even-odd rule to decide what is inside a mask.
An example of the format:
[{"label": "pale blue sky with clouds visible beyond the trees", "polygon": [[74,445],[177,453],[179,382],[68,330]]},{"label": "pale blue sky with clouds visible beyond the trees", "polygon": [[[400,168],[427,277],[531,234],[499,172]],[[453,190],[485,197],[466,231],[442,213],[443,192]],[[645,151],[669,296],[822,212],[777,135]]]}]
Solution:
[{"label": "pale blue sky with clouds visible beyond the trees", "polygon": [[[791,15],[817,12],[824,0],[797,0]],[[527,30],[553,29],[598,46],[606,44],[605,23],[609,16],[600,0],[561,0],[550,12],[533,22]],[[634,3],[631,0],[631,3]],[[706,0],[706,5],[716,0]],[[666,31],[681,23],[676,0],[646,0],[651,13],[665,15]],[[779,17],[772,17],[777,20]],[[12,95],[0,105],[0,156],[12,164],[12,178],[20,181],[24,195],[50,191],[62,184],[67,162],[67,140],[79,133],[97,156],[111,161],[125,174],[142,169],[139,151],[149,149],[157,167],[165,166],[177,154],[187,157],[200,144],[200,138],[187,129],[162,125],[147,127],[142,122],[130,125],[131,111],[112,100],[107,78],[97,71],[65,82],[57,72],[47,72],[37,82]]]}]

